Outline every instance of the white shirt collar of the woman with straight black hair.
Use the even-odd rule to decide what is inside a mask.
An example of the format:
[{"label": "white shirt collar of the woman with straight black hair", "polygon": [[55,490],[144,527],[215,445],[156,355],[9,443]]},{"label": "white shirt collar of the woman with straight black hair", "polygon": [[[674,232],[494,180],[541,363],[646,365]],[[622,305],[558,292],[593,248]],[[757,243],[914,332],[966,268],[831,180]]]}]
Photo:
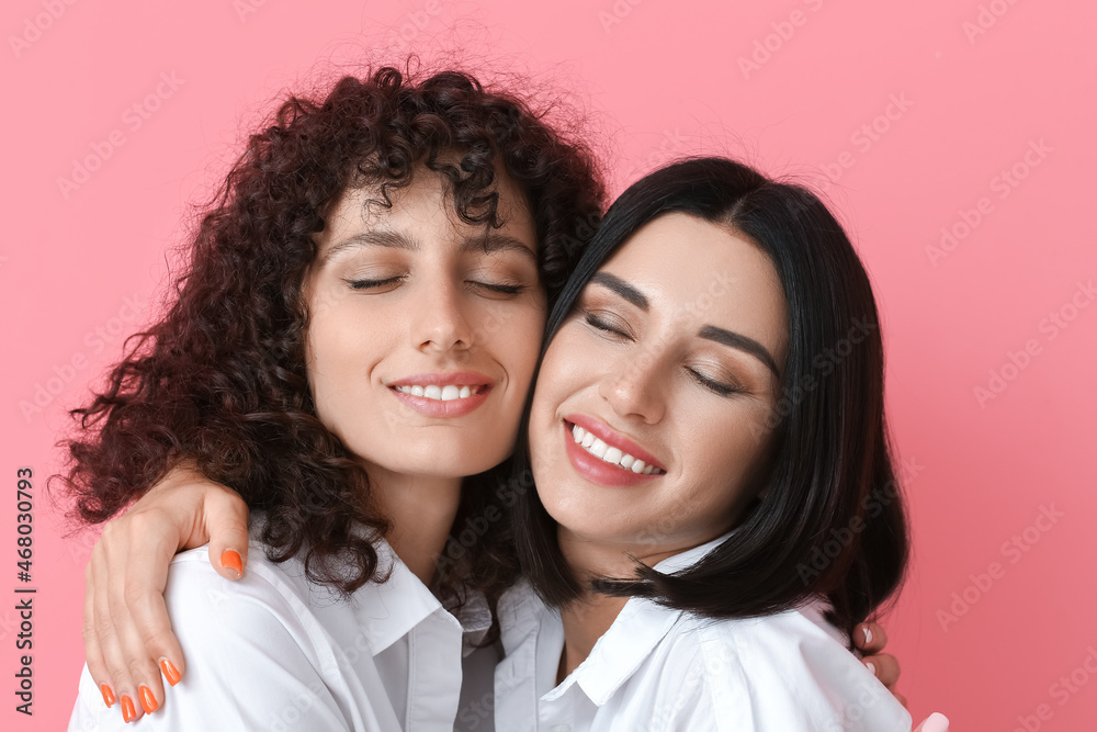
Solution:
[{"label": "white shirt collar of the woman with straight black hair", "polygon": [[[731,532],[669,556],[654,568],[663,574],[688,570],[728,536]],[[546,694],[544,699],[557,699],[566,694],[572,685],[578,684],[587,698],[601,707],[636,673],[681,615],[681,610],[665,607],[646,598],[630,598],[610,629],[595,643],[586,661],[579,664],[563,684]]]}]

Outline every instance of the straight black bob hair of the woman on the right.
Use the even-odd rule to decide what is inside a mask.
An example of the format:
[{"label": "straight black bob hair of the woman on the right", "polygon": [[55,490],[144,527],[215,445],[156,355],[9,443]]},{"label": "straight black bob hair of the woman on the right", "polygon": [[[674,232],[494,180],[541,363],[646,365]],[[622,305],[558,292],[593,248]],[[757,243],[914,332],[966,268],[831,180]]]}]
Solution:
[{"label": "straight black bob hair of the woman on the right", "polygon": [[[789,349],[774,418],[757,426],[758,438],[770,441],[766,489],[695,565],[663,574],[637,563],[634,577],[603,577],[590,588],[712,618],[769,615],[824,597],[830,621],[851,632],[902,584],[907,528],[884,423],[872,288],[815,194],[725,158],[689,158],[646,176],[607,212],[550,314],[544,347],[602,263],[672,212],[746,235],[780,277]],[[522,475],[530,466],[528,412],[516,454]],[[519,561],[533,588],[553,607],[577,599],[584,587],[536,492],[518,492],[513,511]]]}]

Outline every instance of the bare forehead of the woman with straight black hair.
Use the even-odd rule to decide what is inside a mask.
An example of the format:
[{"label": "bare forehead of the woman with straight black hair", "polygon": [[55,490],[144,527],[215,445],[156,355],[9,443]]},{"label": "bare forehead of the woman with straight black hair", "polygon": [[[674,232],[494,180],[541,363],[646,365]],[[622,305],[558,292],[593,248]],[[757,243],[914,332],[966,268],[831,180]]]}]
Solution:
[{"label": "bare forehead of the woman with straight black hair", "polygon": [[637,229],[601,271],[643,292],[659,315],[734,330],[783,361],[784,290],[769,256],[740,232],[667,214]]}]

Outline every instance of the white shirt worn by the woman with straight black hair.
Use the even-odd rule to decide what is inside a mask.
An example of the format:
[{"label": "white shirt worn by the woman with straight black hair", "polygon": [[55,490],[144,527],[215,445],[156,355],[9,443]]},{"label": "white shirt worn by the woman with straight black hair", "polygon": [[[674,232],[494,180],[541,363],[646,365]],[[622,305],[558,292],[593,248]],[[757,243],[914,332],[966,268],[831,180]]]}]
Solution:
[{"label": "white shirt worn by the woman with straight black hair", "polygon": [[[655,566],[682,570],[721,540]],[[500,732],[909,732],[911,716],[817,608],[711,620],[630,598],[558,686],[559,615],[528,584],[499,604]]]}]

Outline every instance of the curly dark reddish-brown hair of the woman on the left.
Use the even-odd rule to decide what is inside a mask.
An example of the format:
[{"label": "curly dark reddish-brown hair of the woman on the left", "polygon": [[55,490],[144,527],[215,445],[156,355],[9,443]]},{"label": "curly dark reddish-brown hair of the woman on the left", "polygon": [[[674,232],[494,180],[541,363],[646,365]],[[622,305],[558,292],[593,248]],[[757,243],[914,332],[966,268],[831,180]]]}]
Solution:
[{"label": "curly dark reddish-brown hair of the woman on the left", "polygon": [[[350,187],[388,193],[429,169],[460,217],[499,226],[497,171],[525,194],[550,302],[597,227],[604,189],[590,149],[521,99],[468,74],[380,68],[319,100],[291,97],[251,135],[190,245],[165,317],[132,337],[105,388],[73,409],[59,476],[81,523],[105,521],[185,460],[265,511],[260,539],[282,562],[304,552],[310,579],[351,593],[383,581],[355,457],[317,418],[305,369],[302,284],[313,235]],[[506,473],[506,466],[491,475]],[[490,498],[466,483],[459,521]],[[361,527],[367,531],[359,530]],[[513,576],[504,522],[442,573],[495,595]]]}]

